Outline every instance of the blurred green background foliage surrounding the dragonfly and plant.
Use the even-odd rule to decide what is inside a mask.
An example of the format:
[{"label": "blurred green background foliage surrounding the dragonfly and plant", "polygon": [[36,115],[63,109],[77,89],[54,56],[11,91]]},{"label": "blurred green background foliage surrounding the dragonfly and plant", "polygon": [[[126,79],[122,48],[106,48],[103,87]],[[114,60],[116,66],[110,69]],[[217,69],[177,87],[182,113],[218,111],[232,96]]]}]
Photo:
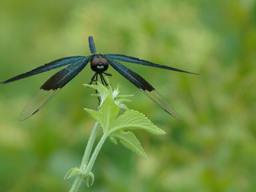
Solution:
[{"label": "blurred green background foliage surrounding the dragonfly and plant", "polygon": [[[58,58],[126,54],[202,75],[125,63],[176,109],[164,112],[111,67],[112,87],[134,94],[164,136],[135,131],[148,160],[107,141],[88,192],[256,191],[255,0],[1,0],[0,81]],[[0,191],[68,191],[96,109],[86,68],[37,114],[19,122],[54,70],[0,86]],[[97,141],[100,138],[98,134]]]}]

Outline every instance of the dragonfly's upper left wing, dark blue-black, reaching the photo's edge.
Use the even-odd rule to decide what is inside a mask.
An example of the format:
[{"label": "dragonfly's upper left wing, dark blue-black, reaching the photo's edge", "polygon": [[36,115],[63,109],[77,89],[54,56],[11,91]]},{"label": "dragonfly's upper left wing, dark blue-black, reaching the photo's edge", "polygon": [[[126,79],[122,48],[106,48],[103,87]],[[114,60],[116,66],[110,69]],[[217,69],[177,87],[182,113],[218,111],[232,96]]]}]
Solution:
[{"label": "dragonfly's upper left wing, dark blue-black, reaching the photo's edge", "polygon": [[84,56],[72,56],[72,57],[61,58],[61,59],[52,61],[50,63],[44,64],[43,66],[35,68],[35,69],[33,69],[29,72],[17,75],[13,78],[10,78],[10,79],[8,79],[4,82],[1,82],[0,85],[10,83],[10,82],[13,82],[13,81],[16,81],[16,80],[20,80],[20,79],[23,79],[23,78],[26,78],[26,77],[30,77],[30,76],[33,76],[33,75],[36,75],[36,74],[39,74],[39,73],[42,73],[42,72],[46,72],[46,71],[49,71],[49,70],[52,70],[52,69],[55,69],[55,68],[59,68],[59,67],[68,65],[68,64],[72,64],[72,63],[75,63],[77,61],[82,60],[83,58],[86,58],[86,57],[84,57]]}]

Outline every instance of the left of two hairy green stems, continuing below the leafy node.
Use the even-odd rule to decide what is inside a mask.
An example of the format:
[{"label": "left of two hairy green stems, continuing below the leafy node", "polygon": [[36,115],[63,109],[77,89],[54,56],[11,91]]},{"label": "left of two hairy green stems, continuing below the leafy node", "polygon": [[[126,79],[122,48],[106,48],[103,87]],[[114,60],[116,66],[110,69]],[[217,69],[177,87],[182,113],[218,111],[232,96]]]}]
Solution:
[{"label": "left of two hairy green stems, continuing below the leafy node", "polygon": [[[85,152],[84,152],[84,156],[83,156],[83,159],[82,159],[82,163],[80,165],[80,170],[84,170],[85,169],[84,164],[86,162],[88,162],[88,160],[89,160],[90,154],[92,152],[92,146],[94,144],[94,141],[95,141],[95,138],[96,138],[98,130],[99,130],[99,122],[96,122],[94,124],[94,127],[92,129],[90,138],[88,140],[88,143],[87,143],[87,146],[86,146],[86,149],[85,149]],[[82,180],[83,180],[83,176],[82,175],[78,175],[76,177],[76,179],[75,179],[71,189],[70,189],[70,192],[77,192],[79,186],[81,185]]]}]

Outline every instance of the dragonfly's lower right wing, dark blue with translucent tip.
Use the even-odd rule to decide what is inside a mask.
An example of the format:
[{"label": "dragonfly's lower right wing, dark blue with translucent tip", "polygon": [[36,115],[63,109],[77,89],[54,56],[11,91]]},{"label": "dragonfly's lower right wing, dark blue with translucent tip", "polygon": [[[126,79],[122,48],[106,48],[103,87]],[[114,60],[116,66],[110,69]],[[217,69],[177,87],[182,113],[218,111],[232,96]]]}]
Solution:
[{"label": "dragonfly's lower right wing, dark blue with translucent tip", "polygon": [[158,104],[170,115],[174,116],[178,120],[181,120],[180,116],[172,108],[172,106],[170,106],[170,104],[168,104],[168,102],[163,98],[163,96],[160,93],[158,93],[155,90],[155,88],[152,85],[150,85],[144,78],[142,78],[139,74],[130,70],[126,66],[120,64],[119,62],[112,60],[110,58],[106,59],[116,71],[118,71],[122,76],[124,76],[127,80],[129,80],[132,84],[139,88],[144,94],[146,94],[146,96],[148,96],[151,100],[153,100],[156,104]]}]

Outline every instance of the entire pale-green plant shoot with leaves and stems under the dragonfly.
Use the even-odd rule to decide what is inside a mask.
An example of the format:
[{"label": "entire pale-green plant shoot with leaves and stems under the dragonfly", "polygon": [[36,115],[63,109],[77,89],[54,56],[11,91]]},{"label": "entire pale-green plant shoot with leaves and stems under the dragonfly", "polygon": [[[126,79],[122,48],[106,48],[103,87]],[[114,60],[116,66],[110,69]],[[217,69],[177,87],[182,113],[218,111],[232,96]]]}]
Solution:
[{"label": "entire pale-green plant shoot with leaves and stems under the dragonfly", "polygon": [[[131,95],[119,95],[119,85],[114,91],[111,86],[108,86],[107,88],[100,82],[97,82],[96,85],[84,84],[84,86],[97,91],[97,94],[93,95],[100,98],[100,105],[98,111],[87,108],[84,109],[96,123],[88,140],[80,168],[72,168],[65,176],[65,179],[76,176],[76,180],[74,181],[70,192],[76,192],[82,180],[86,182],[88,187],[93,184],[94,174],[91,172],[92,166],[107,138],[114,144],[118,144],[119,140],[124,147],[147,159],[144,149],[139,140],[132,133],[132,130],[143,129],[152,134],[165,134],[163,130],[152,124],[144,114],[136,110],[128,109],[124,102],[130,101],[126,99],[126,97]],[[102,128],[103,135],[90,156],[99,127]],[[91,179],[90,184],[89,178]]]}]

